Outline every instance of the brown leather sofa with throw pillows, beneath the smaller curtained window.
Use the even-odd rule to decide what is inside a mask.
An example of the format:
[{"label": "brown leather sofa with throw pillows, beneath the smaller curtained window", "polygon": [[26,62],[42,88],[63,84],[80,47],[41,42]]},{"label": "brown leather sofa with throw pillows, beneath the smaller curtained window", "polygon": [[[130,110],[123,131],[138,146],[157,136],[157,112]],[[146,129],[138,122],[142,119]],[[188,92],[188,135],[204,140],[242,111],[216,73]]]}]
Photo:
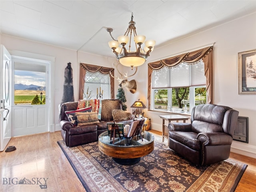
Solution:
[{"label": "brown leather sofa with throw pillows, beneath the smaller curtained window", "polygon": [[[73,126],[68,121],[68,117],[65,111],[76,110],[78,102],[66,102],[60,106],[60,128],[63,140],[66,146],[73,147],[98,140],[98,136],[107,131],[107,122],[113,122],[112,110],[122,109],[122,102],[117,99],[105,99],[102,100],[101,108],[101,120],[96,124],[88,124],[83,126]],[[134,119],[134,115],[130,116],[128,120],[116,120],[115,122],[123,122],[131,124]]]}]

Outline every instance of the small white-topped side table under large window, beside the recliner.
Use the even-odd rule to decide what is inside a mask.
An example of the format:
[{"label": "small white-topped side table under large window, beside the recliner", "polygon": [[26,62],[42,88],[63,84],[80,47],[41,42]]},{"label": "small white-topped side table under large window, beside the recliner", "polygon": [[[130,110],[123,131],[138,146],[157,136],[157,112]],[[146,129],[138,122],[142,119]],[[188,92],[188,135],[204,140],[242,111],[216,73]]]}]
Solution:
[{"label": "small white-topped side table under large window, beside the recliner", "polygon": [[[163,123],[162,123],[162,142],[164,142],[164,138],[168,139],[168,145],[169,145],[169,131],[168,131],[168,124],[171,121],[176,121],[179,122],[179,120],[183,120],[183,122],[185,123],[186,120],[188,120],[189,118],[183,115],[160,115],[160,118],[163,119]],[[165,124],[165,120],[168,121],[168,124]]]}]

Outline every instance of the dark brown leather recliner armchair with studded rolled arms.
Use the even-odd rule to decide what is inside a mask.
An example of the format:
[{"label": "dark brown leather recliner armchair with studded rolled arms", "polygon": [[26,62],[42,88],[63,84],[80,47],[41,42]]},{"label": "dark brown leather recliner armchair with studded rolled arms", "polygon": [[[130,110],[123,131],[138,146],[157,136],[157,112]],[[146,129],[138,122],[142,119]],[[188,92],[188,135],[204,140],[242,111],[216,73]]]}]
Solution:
[{"label": "dark brown leather recliner armchair with studded rolled arms", "polygon": [[169,147],[195,165],[228,159],[238,111],[214,104],[195,106],[191,123],[169,123]]}]

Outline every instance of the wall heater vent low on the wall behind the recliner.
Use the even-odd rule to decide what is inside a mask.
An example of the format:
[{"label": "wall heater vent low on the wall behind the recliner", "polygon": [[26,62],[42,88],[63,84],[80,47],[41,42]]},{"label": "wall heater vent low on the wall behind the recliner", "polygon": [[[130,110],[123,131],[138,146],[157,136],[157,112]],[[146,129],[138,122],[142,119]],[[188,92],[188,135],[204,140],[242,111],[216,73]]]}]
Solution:
[{"label": "wall heater vent low on the wall behind the recliner", "polygon": [[248,117],[238,116],[233,140],[249,143],[248,140]]}]

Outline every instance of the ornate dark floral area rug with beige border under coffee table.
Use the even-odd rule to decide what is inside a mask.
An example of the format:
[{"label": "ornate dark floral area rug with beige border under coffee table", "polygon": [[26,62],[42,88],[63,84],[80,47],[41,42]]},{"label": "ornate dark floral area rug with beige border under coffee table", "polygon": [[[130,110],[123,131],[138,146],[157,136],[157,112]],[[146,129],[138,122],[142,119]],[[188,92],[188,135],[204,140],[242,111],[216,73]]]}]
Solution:
[{"label": "ornate dark floral area rug with beige border under coffee table", "polygon": [[246,164],[225,160],[197,167],[158,142],[140,162],[123,166],[102,154],[98,142],[69,148],[58,144],[88,192],[234,192]]}]

